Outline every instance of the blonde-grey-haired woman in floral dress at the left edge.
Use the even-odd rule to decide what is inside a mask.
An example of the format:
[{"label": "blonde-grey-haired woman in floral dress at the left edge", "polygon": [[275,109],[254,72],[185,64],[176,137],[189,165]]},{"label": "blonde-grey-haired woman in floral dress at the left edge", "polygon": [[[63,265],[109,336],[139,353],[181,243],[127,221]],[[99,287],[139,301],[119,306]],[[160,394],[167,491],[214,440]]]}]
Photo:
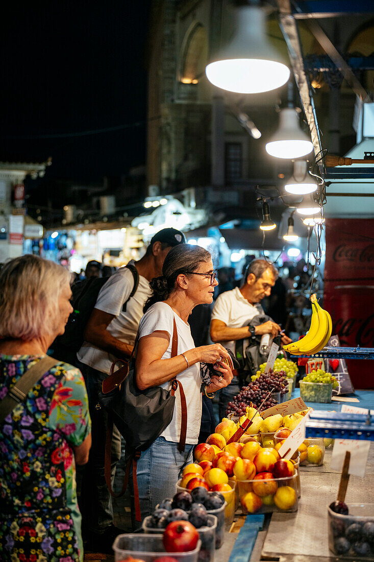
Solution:
[{"label": "blonde-grey-haired woman in floral dress at the left edge", "polygon": [[[45,364],[72,312],[70,297],[61,265],[31,255],[3,265],[0,409],[23,375]],[[37,383],[0,421],[0,558],[13,562],[83,560],[75,463],[88,460],[88,400],[78,369],[50,365],[43,374],[40,364]]]}]

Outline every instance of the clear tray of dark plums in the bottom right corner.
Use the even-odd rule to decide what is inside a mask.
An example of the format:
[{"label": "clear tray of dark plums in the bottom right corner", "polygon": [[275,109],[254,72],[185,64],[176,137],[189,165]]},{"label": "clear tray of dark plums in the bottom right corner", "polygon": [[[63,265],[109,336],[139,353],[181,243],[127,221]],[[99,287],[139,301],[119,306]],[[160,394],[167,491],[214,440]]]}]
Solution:
[{"label": "clear tray of dark plums in the bottom right corner", "polygon": [[327,507],[327,513],[331,552],[343,558],[374,560],[374,504],[336,501]]}]

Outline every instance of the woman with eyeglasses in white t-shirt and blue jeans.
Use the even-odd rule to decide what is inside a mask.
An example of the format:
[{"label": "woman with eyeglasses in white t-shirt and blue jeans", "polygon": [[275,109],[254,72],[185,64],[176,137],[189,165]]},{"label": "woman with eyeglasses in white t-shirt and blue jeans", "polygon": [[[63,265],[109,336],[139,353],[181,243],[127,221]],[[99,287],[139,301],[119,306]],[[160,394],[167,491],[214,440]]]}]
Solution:
[{"label": "woman with eyeglasses in white t-shirt and blue jeans", "polygon": [[[192,462],[200,430],[202,393],[213,398],[217,390],[232,380],[231,369],[221,361],[229,356],[225,348],[220,344],[195,347],[188,324],[195,306],[212,302],[217,284],[210,253],[191,244],[171,248],[161,277],[150,282],[153,294],[145,303],[139,325],[136,383],[141,390],[155,386],[170,389],[171,379],[176,376],[183,386],[187,416],[183,447],[183,396],[178,387],[171,423],[138,460],[136,477],[142,519],[163,499],[174,496],[180,473]],[[174,321],[178,345],[176,355],[171,357]],[[215,365],[217,374],[208,384],[202,384],[200,361]]]}]

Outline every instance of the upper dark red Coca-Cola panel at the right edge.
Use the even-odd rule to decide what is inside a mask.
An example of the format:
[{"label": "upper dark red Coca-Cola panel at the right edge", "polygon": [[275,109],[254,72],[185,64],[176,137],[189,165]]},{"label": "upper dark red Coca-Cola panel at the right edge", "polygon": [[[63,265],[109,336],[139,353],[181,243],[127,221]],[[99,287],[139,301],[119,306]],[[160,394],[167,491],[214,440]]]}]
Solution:
[{"label": "upper dark red Coca-Cola panel at the right edge", "polygon": [[374,220],[326,220],[326,280],[373,279]]}]

